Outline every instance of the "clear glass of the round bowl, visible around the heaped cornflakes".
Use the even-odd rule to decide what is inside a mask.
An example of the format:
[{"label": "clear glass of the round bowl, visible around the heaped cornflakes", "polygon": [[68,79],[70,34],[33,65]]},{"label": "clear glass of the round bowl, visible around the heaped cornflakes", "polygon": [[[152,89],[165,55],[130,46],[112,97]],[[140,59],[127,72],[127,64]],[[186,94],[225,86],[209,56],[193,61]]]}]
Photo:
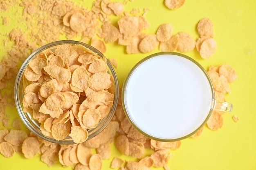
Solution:
[{"label": "clear glass of the round bowl, visible around the heaped cornflakes", "polygon": [[[50,50],[54,50],[56,48],[56,46],[59,45],[63,45],[63,44],[71,44],[71,45],[81,45],[84,46],[85,48],[90,49],[92,52],[97,53],[97,55],[101,58],[103,58],[103,54],[95,49],[94,47],[79,42],[79,41],[72,41],[72,40],[62,40],[62,41],[55,41],[49,44],[46,44],[45,46],[42,46],[40,48],[38,48],[35,52],[33,52],[22,64],[20,70],[18,71],[17,77],[16,77],[16,81],[15,81],[15,86],[14,86],[14,100],[15,100],[15,104],[16,104],[16,108],[18,111],[18,114],[21,118],[21,120],[24,122],[24,124],[27,126],[27,128],[32,131],[33,133],[35,133],[37,136],[49,141],[49,142],[54,142],[57,144],[75,144],[73,139],[70,136],[67,136],[64,140],[56,140],[52,137],[43,135],[43,133],[40,131],[40,123],[36,120],[33,120],[31,118],[31,114],[24,112],[23,111],[23,105],[22,105],[22,99],[24,97],[23,94],[23,85],[22,85],[22,78],[23,78],[23,74],[25,71],[25,68],[28,66],[29,62],[34,59],[40,52],[43,52],[44,50],[50,49]],[[113,101],[113,105],[110,108],[109,113],[107,114],[107,116],[105,116],[101,122],[99,122],[99,124],[93,128],[93,129],[89,129],[88,130],[88,139],[92,139],[93,137],[95,137],[96,135],[98,135],[99,133],[101,133],[101,131],[103,131],[103,129],[106,128],[106,126],[108,125],[108,123],[111,121],[115,110],[117,108],[117,103],[118,103],[118,98],[119,98],[119,85],[118,85],[118,80],[117,80],[117,75],[115,73],[115,70],[113,69],[111,63],[107,60],[106,61],[107,66],[108,66],[108,73],[112,75],[114,81],[114,85],[115,85],[115,93],[114,93],[114,101]]]}]

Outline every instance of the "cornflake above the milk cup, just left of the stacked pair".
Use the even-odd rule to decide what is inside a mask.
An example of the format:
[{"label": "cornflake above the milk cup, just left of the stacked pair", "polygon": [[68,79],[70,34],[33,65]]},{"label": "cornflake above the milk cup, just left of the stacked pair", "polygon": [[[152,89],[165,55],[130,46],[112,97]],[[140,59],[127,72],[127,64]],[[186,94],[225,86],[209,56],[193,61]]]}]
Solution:
[{"label": "cornflake above the milk cup, just left of the stacked pair", "polygon": [[179,32],[179,43],[177,46],[177,50],[180,52],[190,52],[195,48],[195,40],[189,33]]}]

